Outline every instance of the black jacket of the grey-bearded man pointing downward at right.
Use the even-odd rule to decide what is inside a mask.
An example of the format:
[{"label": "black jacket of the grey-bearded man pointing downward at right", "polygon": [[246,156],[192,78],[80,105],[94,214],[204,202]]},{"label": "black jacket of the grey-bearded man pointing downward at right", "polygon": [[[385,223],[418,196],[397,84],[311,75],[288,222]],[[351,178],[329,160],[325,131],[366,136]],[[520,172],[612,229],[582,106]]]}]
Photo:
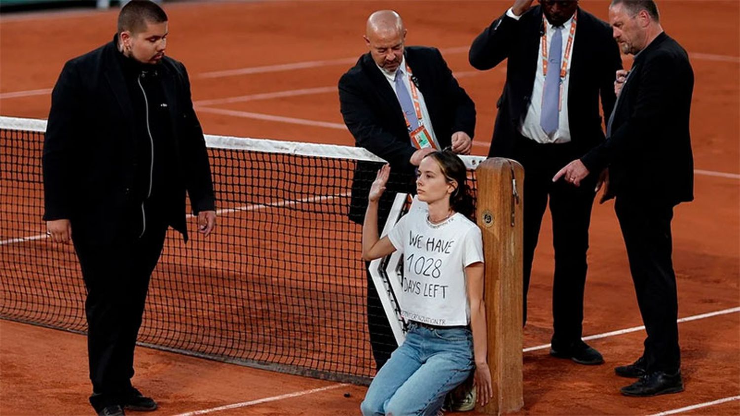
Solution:
[{"label": "black jacket of the grey-bearded man pointing downward at right", "polygon": [[673,205],[693,200],[693,81],[686,51],[665,33],[636,56],[611,136],[581,159],[589,171],[609,167],[611,193]]}]

